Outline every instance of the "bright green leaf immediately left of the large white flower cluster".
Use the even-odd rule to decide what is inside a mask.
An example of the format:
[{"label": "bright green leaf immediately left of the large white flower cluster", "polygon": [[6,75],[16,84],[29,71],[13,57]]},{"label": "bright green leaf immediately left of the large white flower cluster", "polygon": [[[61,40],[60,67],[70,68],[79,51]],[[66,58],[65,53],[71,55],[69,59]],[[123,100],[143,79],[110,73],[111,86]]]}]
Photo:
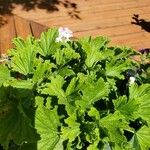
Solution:
[{"label": "bright green leaf immediately left of the large white flower cluster", "polygon": [[43,32],[38,41],[36,41],[37,52],[42,56],[49,56],[55,53],[59,49],[60,44],[55,42],[58,36],[58,30],[53,28],[49,29],[47,32]]}]

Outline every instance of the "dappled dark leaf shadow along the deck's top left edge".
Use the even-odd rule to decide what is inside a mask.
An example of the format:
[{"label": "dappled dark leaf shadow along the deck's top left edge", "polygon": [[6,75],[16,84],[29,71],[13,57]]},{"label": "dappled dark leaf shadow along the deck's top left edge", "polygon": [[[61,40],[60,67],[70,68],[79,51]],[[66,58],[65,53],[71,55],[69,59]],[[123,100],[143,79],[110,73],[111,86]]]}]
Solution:
[{"label": "dappled dark leaf shadow along the deck's top left edge", "polygon": [[18,5],[27,12],[38,8],[46,10],[48,13],[60,11],[59,6],[61,5],[67,9],[67,14],[71,18],[81,19],[77,3],[69,0],[0,0],[0,26],[6,23],[2,16],[12,15],[13,10]]}]

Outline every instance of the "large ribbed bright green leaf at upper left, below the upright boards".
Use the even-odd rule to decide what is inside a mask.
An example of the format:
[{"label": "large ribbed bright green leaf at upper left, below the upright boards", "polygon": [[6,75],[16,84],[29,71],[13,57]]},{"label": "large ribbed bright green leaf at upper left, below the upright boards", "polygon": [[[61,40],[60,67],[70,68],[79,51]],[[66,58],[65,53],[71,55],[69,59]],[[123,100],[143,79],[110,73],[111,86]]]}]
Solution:
[{"label": "large ribbed bright green leaf at upper left, below the upright boards", "polygon": [[14,44],[15,48],[10,52],[12,70],[24,75],[32,73],[35,59],[33,38],[29,37],[26,41],[16,38]]}]

